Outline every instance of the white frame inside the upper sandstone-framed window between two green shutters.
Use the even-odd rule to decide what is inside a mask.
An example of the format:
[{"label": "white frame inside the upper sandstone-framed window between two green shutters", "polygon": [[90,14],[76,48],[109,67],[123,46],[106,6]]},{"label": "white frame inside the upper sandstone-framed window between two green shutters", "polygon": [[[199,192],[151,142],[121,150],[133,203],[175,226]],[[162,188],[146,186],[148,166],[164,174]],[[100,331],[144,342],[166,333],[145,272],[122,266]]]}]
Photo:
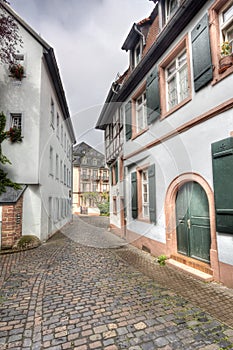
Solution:
[{"label": "white frame inside the upper sandstone-framed window between two green shutters", "polygon": [[[181,58],[183,55],[185,56],[185,60],[179,64],[179,58]],[[171,68],[174,65],[174,71],[169,74],[169,68]],[[186,70],[186,90],[182,91],[181,89],[181,73]],[[187,51],[182,50],[174,60],[172,60],[169,65],[165,69],[166,72],[166,95],[167,95],[167,110],[171,110],[175,106],[177,106],[180,102],[185,100],[189,95],[189,88],[188,88],[188,63],[187,63]],[[172,101],[171,96],[169,94],[169,85],[171,84],[172,80],[175,81],[175,102]]]}]

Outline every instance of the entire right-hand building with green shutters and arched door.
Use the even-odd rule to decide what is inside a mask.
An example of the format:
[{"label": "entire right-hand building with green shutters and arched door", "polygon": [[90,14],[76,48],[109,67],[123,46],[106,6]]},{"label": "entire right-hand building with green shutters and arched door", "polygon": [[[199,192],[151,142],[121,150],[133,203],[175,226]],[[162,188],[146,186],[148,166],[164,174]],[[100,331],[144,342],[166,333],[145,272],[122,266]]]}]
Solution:
[{"label": "entire right-hand building with green shutters and arched door", "polygon": [[[106,138],[116,111],[124,120],[123,151],[114,162],[123,159],[125,210],[112,213],[116,231],[230,287],[232,14],[232,1],[156,1],[123,44],[130,67],[111,87],[97,123]],[[230,51],[221,55],[226,42]]]}]

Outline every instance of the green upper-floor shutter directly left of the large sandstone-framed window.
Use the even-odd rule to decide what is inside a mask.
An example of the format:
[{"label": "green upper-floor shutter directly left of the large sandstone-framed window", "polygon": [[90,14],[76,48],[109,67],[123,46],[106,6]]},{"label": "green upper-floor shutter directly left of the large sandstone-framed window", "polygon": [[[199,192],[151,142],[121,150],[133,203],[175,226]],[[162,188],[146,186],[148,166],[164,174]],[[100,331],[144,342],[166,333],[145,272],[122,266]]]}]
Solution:
[{"label": "green upper-floor shutter directly left of the large sandstone-framed window", "polygon": [[160,95],[158,68],[147,77],[146,81],[147,124],[152,124],[160,116]]}]

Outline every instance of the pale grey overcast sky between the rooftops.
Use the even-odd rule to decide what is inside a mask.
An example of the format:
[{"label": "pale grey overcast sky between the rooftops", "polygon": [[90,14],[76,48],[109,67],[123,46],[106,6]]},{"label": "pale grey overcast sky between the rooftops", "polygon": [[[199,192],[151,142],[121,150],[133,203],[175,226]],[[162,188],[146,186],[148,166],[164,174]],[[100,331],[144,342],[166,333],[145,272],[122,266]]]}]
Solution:
[{"label": "pale grey overcast sky between the rooftops", "polygon": [[149,0],[10,0],[12,8],[55,50],[77,142],[103,151],[94,130],[111,83],[128,67],[121,50]]}]

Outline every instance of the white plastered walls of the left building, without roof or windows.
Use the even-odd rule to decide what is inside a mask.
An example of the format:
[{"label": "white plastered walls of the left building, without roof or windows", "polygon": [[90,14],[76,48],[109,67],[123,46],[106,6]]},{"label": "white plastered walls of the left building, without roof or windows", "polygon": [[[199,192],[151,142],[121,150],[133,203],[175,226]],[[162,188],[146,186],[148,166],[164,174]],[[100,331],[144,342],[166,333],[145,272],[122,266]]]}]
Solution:
[{"label": "white plastered walls of the left building, without roof or windows", "polygon": [[[19,25],[20,27],[20,25]],[[42,240],[60,229],[71,219],[71,203],[69,199],[69,186],[55,178],[56,154],[66,168],[72,174],[71,158],[65,152],[64,144],[56,136],[56,129],[50,125],[50,101],[53,98],[55,104],[55,127],[57,112],[63,123],[64,133],[71,147],[71,135],[68,132],[67,123],[64,120],[60,104],[47,71],[43,58],[43,46],[20,27],[23,39],[23,49],[20,53],[25,56],[25,78],[16,82],[9,77],[8,65],[0,65],[0,105],[1,110],[7,116],[6,129],[10,127],[10,113],[22,113],[23,126],[22,143],[3,143],[3,153],[11,160],[12,166],[5,169],[9,177],[18,183],[29,185],[24,193],[23,207],[23,234],[35,234]],[[54,149],[54,176],[49,175],[49,148]],[[64,170],[63,170],[64,173]],[[62,175],[64,176],[64,174]],[[48,201],[53,198],[53,203],[63,200],[66,205],[65,216],[59,214],[55,219],[53,213],[52,231],[48,232]]]}]

